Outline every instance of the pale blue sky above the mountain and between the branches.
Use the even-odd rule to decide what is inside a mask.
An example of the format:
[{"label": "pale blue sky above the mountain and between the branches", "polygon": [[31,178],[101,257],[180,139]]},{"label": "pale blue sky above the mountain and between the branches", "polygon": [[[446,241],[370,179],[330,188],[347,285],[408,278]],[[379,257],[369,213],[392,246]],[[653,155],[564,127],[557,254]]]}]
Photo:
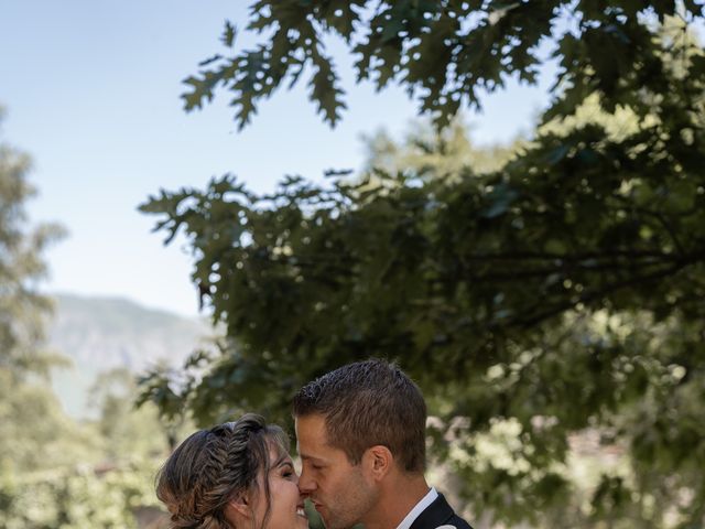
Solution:
[{"label": "pale blue sky above the mountain and between the branches", "polygon": [[[223,52],[225,20],[243,28],[249,3],[0,2],[0,138],[33,159],[32,222],[68,230],[45,255],[45,291],[123,296],[195,315],[193,261],[183,240],[164,247],[151,233],[155,219],[137,210],[148,195],[204,187],[226,172],[264,192],[285,174],[318,180],[327,169],[357,169],[361,134],[386,128],[401,137],[415,117],[403,90],[355,86],[350,58],[339,53],[348,110],[335,129],[316,115],[305,83],[276,91],[242,131],[225,94],[185,114],[182,79]],[[241,32],[236,42],[254,41]],[[488,144],[529,131],[550,80],[487,97],[481,115],[468,114],[473,139]]]}]

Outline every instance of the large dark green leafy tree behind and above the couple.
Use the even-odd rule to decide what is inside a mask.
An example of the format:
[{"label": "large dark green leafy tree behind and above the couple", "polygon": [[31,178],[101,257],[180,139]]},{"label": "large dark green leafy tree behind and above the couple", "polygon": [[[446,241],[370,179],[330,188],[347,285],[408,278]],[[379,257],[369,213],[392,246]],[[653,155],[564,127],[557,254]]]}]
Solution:
[{"label": "large dark green leafy tree behind and above the couple", "polygon": [[[425,162],[392,156],[359,179],[258,196],[226,175],[152,197],[142,209],[167,241],[189,237],[226,337],[183,379],[147,377],[144,398],[288,420],[306,380],[387,356],[424,389],[432,453],[475,512],[702,525],[705,56],[688,33],[702,21],[692,1],[254,3],[267,42],[204,63],[187,108],[224,85],[245,125],[311,66],[334,123],[329,33],[360,78],[401,83],[437,126],[506,76],[532,82],[540,44],[561,65],[553,100],[499,168],[446,162],[442,136]],[[616,462],[585,485],[573,456],[590,439]]]}]

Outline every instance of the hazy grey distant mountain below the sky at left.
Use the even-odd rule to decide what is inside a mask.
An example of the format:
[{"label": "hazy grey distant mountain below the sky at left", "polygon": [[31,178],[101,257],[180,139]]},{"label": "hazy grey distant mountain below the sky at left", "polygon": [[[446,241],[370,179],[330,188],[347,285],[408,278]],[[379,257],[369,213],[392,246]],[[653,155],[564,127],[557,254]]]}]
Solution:
[{"label": "hazy grey distant mountain below the sky at left", "polygon": [[164,361],[178,366],[213,335],[207,322],[145,309],[120,298],[55,295],[48,346],[68,357],[73,367],[56,369],[52,386],[64,409],[75,418],[91,415],[88,390],[106,370],[133,373]]}]

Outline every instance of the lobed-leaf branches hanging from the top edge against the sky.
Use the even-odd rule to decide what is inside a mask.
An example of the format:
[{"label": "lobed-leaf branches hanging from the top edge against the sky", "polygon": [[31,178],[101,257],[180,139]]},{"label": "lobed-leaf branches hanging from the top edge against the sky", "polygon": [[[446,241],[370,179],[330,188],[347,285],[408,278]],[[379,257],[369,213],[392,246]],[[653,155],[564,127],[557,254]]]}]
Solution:
[{"label": "lobed-leaf branches hanging from the top edge against the sky", "polygon": [[[325,54],[330,35],[358,57],[358,82],[372,80],[378,89],[399,83],[440,126],[460,108],[479,108],[481,94],[502,88],[509,77],[535,83],[546,47],[560,62],[553,90],[563,94],[551,117],[572,114],[590,94],[609,110],[629,105],[646,115],[640,90],[663,93],[668,84],[650,25],[703,14],[695,0],[259,0],[250,9],[247,30],[264,33],[265,43],[202,63],[184,82],[186,110],[200,108],[224,87],[232,93],[242,128],[259,100],[285,82],[297,83],[306,71],[310,98],[335,126],[345,101]],[[230,22],[223,42],[235,50]]]}]

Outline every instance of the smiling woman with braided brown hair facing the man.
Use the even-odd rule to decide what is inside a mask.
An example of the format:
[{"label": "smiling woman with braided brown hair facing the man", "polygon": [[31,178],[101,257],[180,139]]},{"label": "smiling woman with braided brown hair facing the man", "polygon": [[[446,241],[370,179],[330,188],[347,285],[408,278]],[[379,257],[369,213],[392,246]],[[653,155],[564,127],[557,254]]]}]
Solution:
[{"label": "smiling woman with braided brown hair facing the man", "polygon": [[297,483],[286,434],[247,413],[178,445],[156,496],[173,529],[307,529]]}]

